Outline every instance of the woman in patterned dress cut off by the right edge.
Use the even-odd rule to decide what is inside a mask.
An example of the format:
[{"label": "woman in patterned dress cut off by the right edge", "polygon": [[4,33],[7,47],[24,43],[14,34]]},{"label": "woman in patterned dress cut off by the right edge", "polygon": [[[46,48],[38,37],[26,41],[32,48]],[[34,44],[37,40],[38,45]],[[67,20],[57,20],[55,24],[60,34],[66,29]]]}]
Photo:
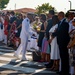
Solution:
[{"label": "woman in patterned dress cut off by the right edge", "polygon": [[[72,21],[73,26],[75,26],[75,18]],[[72,61],[71,61],[71,66],[74,67],[74,74],[75,75],[75,29],[73,29],[70,33],[70,42],[68,44],[68,48],[71,49],[71,54],[72,54]]]}]

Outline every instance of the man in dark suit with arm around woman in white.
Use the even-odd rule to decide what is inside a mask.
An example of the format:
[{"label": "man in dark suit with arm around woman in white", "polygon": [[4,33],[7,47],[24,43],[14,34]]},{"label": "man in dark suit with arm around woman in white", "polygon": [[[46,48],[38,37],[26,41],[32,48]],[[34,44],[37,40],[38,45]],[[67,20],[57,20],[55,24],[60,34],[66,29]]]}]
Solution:
[{"label": "man in dark suit with arm around woman in white", "polygon": [[67,49],[67,45],[70,39],[68,34],[69,24],[66,22],[64,17],[65,16],[63,12],[58,13],[60,23],[56,32],[52,34],[52,37],[57,37],[57,43],[59,45],[61,58],[61,75],[69,75],[69,54]]}]

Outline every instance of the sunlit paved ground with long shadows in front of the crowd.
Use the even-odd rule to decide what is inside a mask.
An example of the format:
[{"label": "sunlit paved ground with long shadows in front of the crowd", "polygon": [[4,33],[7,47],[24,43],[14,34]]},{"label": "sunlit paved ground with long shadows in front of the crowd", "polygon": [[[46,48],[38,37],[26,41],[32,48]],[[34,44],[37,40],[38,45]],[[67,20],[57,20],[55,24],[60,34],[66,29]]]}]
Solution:
[{"label": "sunlit paved ground with long shadows in front of the crowd", "polygon": [[21,61],[13,55],[13,49],[0,43],[0,75],[57,75],[46,69],[44,63],[32,61],[32,52],[26,53],[28,61]]}]

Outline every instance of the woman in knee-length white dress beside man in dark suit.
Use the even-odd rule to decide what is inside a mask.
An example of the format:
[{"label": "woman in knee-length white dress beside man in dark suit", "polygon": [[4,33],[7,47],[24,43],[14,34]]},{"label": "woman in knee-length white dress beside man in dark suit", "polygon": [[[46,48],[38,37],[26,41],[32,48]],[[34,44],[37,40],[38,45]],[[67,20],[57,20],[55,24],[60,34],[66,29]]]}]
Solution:
[{"label": "woman in knee-length white dress beside man in dark suit", "polygon": [[[56,29],[58,28],[58,16],[54,15],[52,18],[53,21],[53,26],[52,28],[49,30],[49,33],[52,34],[56,31]],[[50,35],[50,39],[51,35]],[[54,39],[52,39],[52,42],[50,43],[51,45],[51,60],[54,60],[53,66],[50,68],[50,70],[53,71],[58,71],[59,70],[59,59],[60,59],[60,54],[59,54],[59,47],[57,44],[57,37],[55,37]]]}]

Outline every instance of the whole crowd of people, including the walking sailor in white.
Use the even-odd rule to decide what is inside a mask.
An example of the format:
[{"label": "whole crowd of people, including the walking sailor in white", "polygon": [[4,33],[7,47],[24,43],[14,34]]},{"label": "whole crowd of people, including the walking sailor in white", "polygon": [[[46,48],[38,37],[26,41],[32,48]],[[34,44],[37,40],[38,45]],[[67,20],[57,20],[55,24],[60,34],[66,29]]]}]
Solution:
[{"label": "whole crowd of people, including the walking sailor in white", "polygon": [[[46,68],[60,75],[75,75],[74,12],[55,14],[50,10],[48,14],[27,13],[25,17],[13,11],[1,13],[0,41],[16,49],[17,58],[21,53],[23,61],[27,60],[27,48],[35,47],[41,53],[38,62],[48,62]],[[29,41],[32,42],[29,44]]]}]

